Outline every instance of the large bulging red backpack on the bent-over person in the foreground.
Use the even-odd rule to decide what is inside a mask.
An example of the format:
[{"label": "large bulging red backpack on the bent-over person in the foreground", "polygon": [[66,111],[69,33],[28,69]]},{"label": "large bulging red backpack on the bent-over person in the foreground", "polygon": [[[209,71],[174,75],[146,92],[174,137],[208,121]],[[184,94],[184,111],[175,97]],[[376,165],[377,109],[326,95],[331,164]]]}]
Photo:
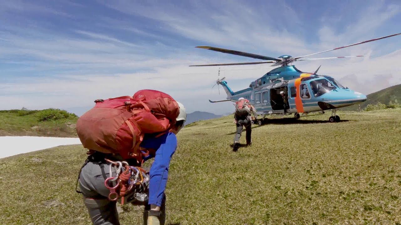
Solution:
[{"label": "large bulging red backpack on the bent-over person in the foreground", "polygon": [[[95,106],[79,117],[77,134],[84,148],[115,153],[142,164],[140,143],[145,134],[170,131],[180,107],[168,94],[140,90],[134,96],[95,100]],[[146,155],[146,154],[145,154]]]}]

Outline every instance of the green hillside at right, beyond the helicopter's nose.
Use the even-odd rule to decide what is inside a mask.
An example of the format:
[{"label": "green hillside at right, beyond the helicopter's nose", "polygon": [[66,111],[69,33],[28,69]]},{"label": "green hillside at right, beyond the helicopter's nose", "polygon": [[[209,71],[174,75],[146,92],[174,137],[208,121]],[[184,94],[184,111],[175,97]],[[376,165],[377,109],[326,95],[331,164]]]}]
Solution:
[{"label": "green hillside at right, beyond the helicopter's nose", "polygon": [[[395,104],[395,102],[401,104],[401,84],[394,85],[383,90],[371,93],[367,95],[367,100],[360,104],[360,109],[363,110],[368,104]],[[341,110],[352,110],[357,111],[358,105],[352,105],[341,108]]]}]

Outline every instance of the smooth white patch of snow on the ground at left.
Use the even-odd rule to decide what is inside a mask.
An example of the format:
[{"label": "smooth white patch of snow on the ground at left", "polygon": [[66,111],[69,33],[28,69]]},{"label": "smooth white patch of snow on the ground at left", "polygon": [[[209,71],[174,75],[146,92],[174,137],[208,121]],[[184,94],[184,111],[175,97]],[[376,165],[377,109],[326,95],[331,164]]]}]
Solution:
[{"label": "smooth white patch of snow on the ground at left", "polygon": [[61,145],[81,145],[81,141],[74,137],[2,136],[0,159]]}]

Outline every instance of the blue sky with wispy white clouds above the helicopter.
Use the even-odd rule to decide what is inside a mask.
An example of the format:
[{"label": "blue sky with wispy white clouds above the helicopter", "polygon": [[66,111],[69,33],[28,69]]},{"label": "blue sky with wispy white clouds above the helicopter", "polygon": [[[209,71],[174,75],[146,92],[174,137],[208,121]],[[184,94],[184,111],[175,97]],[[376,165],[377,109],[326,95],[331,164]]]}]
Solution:
[{"label": "blue sky with wispy white clouds above the helicopter", "polygon": [[[254,62],[194,48],[209,45],[277,57],[302,56],[401,32],[401,2],[372,1],[5,1],[0,0],[0,109],[66,108],[81,114],[97,98],[165,91],[189,112],[225,113],[219,67]],[[369,94],[401,83],[401,37],[316,55],[373,54],[296,62]],[[274,67],[222,66],[233,90]],[[150,82],[150,80],[152,80]],[[196,99],[196,101],[195,101]]]}]

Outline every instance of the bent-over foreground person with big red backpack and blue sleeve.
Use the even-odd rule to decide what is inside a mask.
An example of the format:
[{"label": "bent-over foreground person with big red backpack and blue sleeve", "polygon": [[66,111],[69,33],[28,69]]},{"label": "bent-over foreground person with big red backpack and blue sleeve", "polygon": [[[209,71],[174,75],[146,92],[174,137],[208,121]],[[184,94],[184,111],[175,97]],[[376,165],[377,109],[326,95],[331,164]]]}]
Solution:
[{"label": "bent-over foreground person with big red backpack and blue sleeve", "polygon": [[[143,196],[135,190],[144,191],[146,185],[143,222],[164,224],[164,190],[176,134],[186,121],[185,107],[156,90],[95,102],[77,121],[77,134],[89,149],[78,178],[79,193],[93,225],[119,225],[117,201],[134,204],[133,199]],[[147,174],[141,166],[151,158]]]}]

